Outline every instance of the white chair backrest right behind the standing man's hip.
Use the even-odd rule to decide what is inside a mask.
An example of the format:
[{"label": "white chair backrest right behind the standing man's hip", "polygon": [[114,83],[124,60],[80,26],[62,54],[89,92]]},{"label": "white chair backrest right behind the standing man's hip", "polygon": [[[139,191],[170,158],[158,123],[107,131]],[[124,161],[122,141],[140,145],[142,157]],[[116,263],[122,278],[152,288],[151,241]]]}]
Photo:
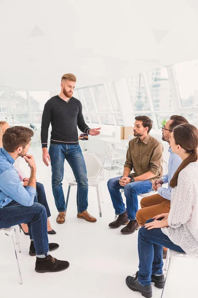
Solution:
[{"label": "white chair backrest right behind the standing man's hip", "polygon": [[85,158],[88,177],[98,177],[99,174],[102,174],[103,166],[94,152],[84,151],[83,156]]}]

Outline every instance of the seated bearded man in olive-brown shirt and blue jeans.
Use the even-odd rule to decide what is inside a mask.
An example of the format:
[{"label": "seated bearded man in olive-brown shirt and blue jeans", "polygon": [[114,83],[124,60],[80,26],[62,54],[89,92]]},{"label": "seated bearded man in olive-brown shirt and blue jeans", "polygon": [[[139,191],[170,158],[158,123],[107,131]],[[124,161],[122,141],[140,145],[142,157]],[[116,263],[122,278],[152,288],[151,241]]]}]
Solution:
[{"label": "seated bearded man in olive-brown shirt and blue jeans", "polygon": [[[138,195],[148,193],[152,189],[152,181],[162,176],[163,147],[160,142],[148,133],[152,128],[152,120],[147,116],[135,118],[134,138],[129,142],[126,162],[122,177],[112,178],[107,182],[116,221],[109,224],[117,228],[127,224],[121,229],[123,234],[132,234],[139,228],[136,221],[138,211]],[[131,173],[131,171],[134,173]],[[124,189],[126,208],[120,193]]]}]

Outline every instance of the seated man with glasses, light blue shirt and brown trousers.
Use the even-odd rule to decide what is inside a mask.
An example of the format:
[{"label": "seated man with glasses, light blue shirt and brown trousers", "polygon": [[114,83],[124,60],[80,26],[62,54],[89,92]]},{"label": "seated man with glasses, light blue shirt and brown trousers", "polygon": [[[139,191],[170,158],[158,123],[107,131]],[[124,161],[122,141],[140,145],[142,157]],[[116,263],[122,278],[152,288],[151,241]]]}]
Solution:
[{"label": "seated man with glasses, light blue shirt and brown trousers", "polygon": [[[180,125],[189,123],[186,118],[179,115],[173,115],[170,120],[162,127],[162,140],[168,142],[170,145],[170,137],[173,129]],[[169,186],[170,180],[172,179],[174,173],[178,169],[182,162],[179,155],[174,153],[171,148],[168,149],[170,152],[168,161],[168,173],[163,175],[160,179],[155,179],[152,181],[152,188],[158,191],[158,194],[145,197],[141,200],[142,209],[138,210],[136,214],[137,222],[143,226],[149,219],[162,213],[169,213],[170,211],[170,197],[171,197],[171,187]],[[162,184],[168,183],[168,187],[162,187]]]}]

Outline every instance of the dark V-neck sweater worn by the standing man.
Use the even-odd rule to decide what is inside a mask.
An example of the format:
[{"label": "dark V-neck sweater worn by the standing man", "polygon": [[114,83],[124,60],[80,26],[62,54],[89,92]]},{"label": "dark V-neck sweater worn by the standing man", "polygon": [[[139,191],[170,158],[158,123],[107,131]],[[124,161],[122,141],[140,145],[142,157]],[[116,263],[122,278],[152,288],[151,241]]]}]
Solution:
[{"label": "dark V-neck sweater worn by the standing man", "polygon": [[42,148],[48,147],[48,130],[51,123],[51,144],[78,144],[78,128],[88,133],[90,128],[85,123],[80,100],[71,97],[67,102],[58,95],[51,97],[45,104],[42,124]]}]

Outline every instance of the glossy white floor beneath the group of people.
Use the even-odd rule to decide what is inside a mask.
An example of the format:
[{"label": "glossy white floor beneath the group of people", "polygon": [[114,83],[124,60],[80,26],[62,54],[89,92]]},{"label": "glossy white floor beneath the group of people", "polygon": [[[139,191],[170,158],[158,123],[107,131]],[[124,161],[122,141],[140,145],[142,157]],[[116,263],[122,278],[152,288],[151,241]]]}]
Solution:
[{"label": "glossy white floor beneath the group of people", "polygon": [[[32,152],[34,150],[32,149]],[[91,224],[77,219],[76,187],[71,187],[65,224],[56,224],[57,211],[51,191],[51,169],[42,161],[42,150],[34,152],[37,162],[37,180],[44,184],[51,211],[50,223],[57,232],[49,235],[49,242],[60,247],[51,255],[68,260],[70,267],[59,273],[39,274],[34,270],[36,257],[31,257],[29,237],[19,234],[21,253],[18,253],[23,284],[19,285],[15,256],[9,238],[0,234],[0,297],[35,298],[140,298],[141,294],[131,291],[125,284],[127,275],[138,270],[137,235],[123,235],[120,229],[111,229],[108,224],[114,220],[114,209],[106,187],[108,171],[102,182],[104,203],[102,218],[99,218],[95,188],[89,189],[89,213],[96,216],[97,223]],[[24,167],[25,166],[25,167]],[[21,167],[28,167],[21,162]],[[114,171],[111,177],[116,176]],[[63,181],[66,197],[67,181]],[[153,298],[161,297],[161,290],[152,287]]]}]

